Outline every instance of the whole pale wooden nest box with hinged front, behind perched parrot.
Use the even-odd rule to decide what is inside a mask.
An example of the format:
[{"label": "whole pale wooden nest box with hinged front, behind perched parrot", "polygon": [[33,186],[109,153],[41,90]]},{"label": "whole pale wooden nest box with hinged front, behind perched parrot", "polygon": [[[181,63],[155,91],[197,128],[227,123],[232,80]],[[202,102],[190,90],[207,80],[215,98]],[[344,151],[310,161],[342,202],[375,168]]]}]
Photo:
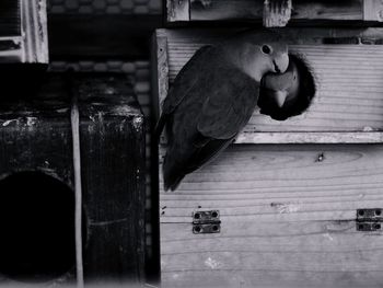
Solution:
[{"label": "whole pale wooden nest box with hinged front, behind perched parrot", "polygon": [[[235,32],[156,32],[158,113],[194,51]],[[357,219],[383,208],[383,30],[282,33],[312,68],[314,102],[286,122],[255,111],[236,142],[175,192],[163,191],[160,165],[163,287],[383,285],[383,231],[360,231]],[[220,231],[194,233],[198,211],[218,211]]]}]

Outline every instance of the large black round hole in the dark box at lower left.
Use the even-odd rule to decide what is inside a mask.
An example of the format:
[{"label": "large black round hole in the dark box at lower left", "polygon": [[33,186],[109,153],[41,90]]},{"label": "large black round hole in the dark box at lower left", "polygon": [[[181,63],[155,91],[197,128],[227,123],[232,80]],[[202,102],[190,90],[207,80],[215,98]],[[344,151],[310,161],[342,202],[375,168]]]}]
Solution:
[{"label": "large black round hole in the dark box at lower left", "polygon": [[76,265],[74,194],[39,172],[0,181],[0,274],[47,281]]}]

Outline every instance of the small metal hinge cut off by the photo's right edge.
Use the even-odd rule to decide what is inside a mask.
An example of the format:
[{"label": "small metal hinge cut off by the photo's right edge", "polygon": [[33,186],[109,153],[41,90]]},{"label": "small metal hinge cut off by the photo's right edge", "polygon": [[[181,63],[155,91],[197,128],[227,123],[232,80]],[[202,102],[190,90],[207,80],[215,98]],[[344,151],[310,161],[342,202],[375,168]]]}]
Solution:
[{"label": "small metal hinge cut off by the photo's right edge", "polygon": [[358,209],[357,210],[357,230],[358,231],[379,231],[382,230],[383,215],[382,208]]}]

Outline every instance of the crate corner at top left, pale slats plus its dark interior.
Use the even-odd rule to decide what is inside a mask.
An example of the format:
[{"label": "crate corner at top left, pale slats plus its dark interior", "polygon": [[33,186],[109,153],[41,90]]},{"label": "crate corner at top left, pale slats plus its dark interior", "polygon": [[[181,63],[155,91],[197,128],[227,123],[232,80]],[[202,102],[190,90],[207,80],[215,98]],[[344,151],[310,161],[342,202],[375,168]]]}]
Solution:
[{"label": "crate corner at top left, pale slats plus its dark interior", "polygon": [[0,62],[48,64],[46,0],[2,0]]}]

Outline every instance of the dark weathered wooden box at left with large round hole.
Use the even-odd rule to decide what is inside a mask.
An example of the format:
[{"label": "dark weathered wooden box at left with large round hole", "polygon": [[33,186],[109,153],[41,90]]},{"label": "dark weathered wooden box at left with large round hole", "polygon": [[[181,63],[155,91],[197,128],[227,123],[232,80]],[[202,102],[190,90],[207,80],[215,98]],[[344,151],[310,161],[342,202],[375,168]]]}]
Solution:
[{"label": "dark weathered wooden box at left with large round hole", "polygon": [[[63,185],[69,191],[68,203],[54,204],[44,200],[44,205],[35,204],[33,197],[31,205],[40,209],[55,209],[66,211],[69,209],[69,224],[74,227],[73,210],[73,157],[72,157],[72,131],[70,122],[70,96],[68,91],[78,93],[80,111],[80,143],[81,143],[81,174],[83,198],[83,272],[85,284],[98,281],[112,283],[140,283],[143,280],[144,262],[144,123],[143,115],[134,96],[132,89],[127,84],[125,76],[79,76],[73,74],[72,81],[63,81],[67,76],[55,76],[48,81],[38,94],[38,97],[30,101],[5,102],[1,104],[0,113],[0,187],[9,176],[19,176],[19,182],[26,182],[25,172],[33,173],[38,178],[48,177],[58,184],[51,186],[49,194],[55,195],[59,186]],[[30,174],[31,175],[31,174]],[[39,175],[39,176],[38,176]],[[30,177],[31,178],[31,177]],[[30,183],[30,182],[26,182]],[[37,187],[36,187],[37,185]],[[39,188],[46,189],[45,181],[27,191],[39,195]],[[9,187],[10,186],[10,187]],[[8,189],[12,185],[7,186]],[[19,187],[19,186],[18,186]],[[50,187],[50,186],[49,186]],[[14,193],[25,195],[21,188],[14,187]],[[4,199],[5,191],[0,193],[2,208],[11,205]],[[58,196],[57,196],[58,197]],[[28,197],[30,198],[30,197]],[[55,196],[53,196],[54,199]],[[39,199],[39,198],[38,198]],[[14,209],[18,215],[35,219],[33,209],[28,208],[30,215],[18,207],[28,207],[20,198],[20,206]],[[13,203],[14,204],[14,203]],[[65,206],[68,204],[68,207]],[[71,205],[70,205],[71,204]],[[51,207],[51,208],[49,208]],[[37,209],[37,208],[36,208]],[[67,210],[66,210],[67,209]],[[72,210],[70,210],[72,209]],[[2,214],[2,227],[4,223],[12,229],[13,218]],[[20,218],[20,216],[19,216]],[[19,219],[18,218],[18,219]],[[19,263],[14,263],[11,273],[2,266],[0,261],[0,284],[16,285],[18,280],[25,276],[36,277],[37,273],[31,273],[32,267],[44,264],[43,268],[58,266],[62,268],[61,258],[49,258],[47,251],[61,255],[61,250],[67,251],[73,239],[57,239],[55,234],[54,215],[42,216],[43,223],[33,223],[36,231],[28,234],[27,239],[15,239],[3,229],[4,239],[13,243],[25,241],[28,249],[12,245],[4,249],[20,254]],[[72,221],[71,221],[72,220]],[[49,224],[45,224],[50,223]],[[18,223],[15,221],[15,223]],[[23,223],[23,222],[22,222]],[[39,235],[42,226],[47,227],[47,242],[44,235]],[[24,226],[21,226],[22,229]],[[38,230],[40,229],[40,230]],[[30,231],[30,230],[28,230]],[[53,232],[54,231],[54,232]],[[67,230],[66,230],[67,231]],[[73,231],[68,230],[73,235]],[[5,238],[7,235],[7,238]],[[68,242],[69,241],[69,242]],[[9,241],[10,242],[10,241]],[[9,243],[7,242],[7,243]],[[47,243],[46,243],[47,242]],[[46,247],[42,243],[46,243]],[[42,249],[36,258],[27,258],[34,255],[31,250]],[[73,250],[69,250],[73,258]],[[61,255],[66,260],[66,255]],[[74,261],[74,258],[73,258]],[[32,264],[31,264],[32,263]],[[37,263],[37,264],[36,264]],[[57,264],[59,263],[59,264]],[[69,263],[67,272],[56,275],[57,272],[46,273],[43,268],[38,272],[42,277],[48,278],[44,285],[60,285],[74,281],[76,262]],[[9,264],[11,265],[11,264]],[[28,266],[32,265],[32,266]],[[65,265],[63,265],[65,266]],[[25,268],[26,267],[26,268]],[[4,269],[3,269],[4,268]],[[7,268],[7,269],[5,269]],[[20,268],[20,269],[19,269]],[[18,270],[19,269],[19,270]],[[4,273],[7,270],[7,273]],[[56,277],[53,277],[56,275]],[[49,276],[49,277],[48,277]],[[11,283],[10,283],[11,280]],[[24,280],[33,280],[28,277]],[[43,284],[40,284],[43,286]],[[86,286],[86,285],[85,285]]]}]

